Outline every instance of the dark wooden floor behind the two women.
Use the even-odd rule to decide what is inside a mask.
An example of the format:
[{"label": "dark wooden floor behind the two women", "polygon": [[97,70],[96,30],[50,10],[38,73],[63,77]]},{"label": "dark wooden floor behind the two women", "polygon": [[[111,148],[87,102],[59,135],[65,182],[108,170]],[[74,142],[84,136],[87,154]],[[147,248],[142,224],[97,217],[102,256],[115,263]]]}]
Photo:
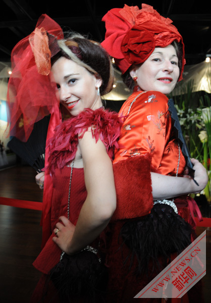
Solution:
[{"label": "dark wooden floor behind the two women", "polygon": [[[1,197],[42,201],[35,183],[36,172],[29,166],[0,171]],[[32,266],[40,251],[41,212],[0,205],[0,303],[29,303],[40,277]],[[198,227],[197,235],[206,228]],[[202,278],[205,303],[211,297],[211,230],[206,229],[206,275]],[[190,302],[191,303],[191,302]]]}]

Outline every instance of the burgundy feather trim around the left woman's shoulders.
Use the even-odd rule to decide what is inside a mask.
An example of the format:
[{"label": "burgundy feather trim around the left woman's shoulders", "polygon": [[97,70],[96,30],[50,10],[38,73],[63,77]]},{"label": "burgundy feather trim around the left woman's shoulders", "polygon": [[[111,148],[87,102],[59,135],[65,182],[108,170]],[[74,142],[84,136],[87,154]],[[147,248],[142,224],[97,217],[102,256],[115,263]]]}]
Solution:
[{"label": "burgundy feather trim around the left woman's shoulders", "polygon": [[55,128],[55,134],[47,142],[49,147],[48,165],[44,170],[49,169],[50,174],[56,168],[63,168],[75,158],[78,146],[78,138],[91,127],[92,137],[96,142],[100,139],[111,159],[114,156],[114,148],[118,148],[117,139],[120,135],[122,119],[118,113],[104,110],[95,111],[85,109],[77,117],[66,120]]}]

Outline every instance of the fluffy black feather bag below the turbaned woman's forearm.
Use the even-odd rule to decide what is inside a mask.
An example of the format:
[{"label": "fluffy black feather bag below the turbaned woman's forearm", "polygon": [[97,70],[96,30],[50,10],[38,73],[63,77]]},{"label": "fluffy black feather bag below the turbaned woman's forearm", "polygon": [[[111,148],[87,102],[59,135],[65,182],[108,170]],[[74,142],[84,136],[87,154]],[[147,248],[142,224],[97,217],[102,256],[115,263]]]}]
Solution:
[{"label": "fluffy black feather bag below the turbaned woman's forearm", "polygon": [[171,206],[155,204],[149,215],[128,220],[121,228],[123,244],[130,248],[130,256],[124,261],[129,260],[131,267],[134,258],[137,259],[137,275],[150,276],[149,262],[152,272],[159,273],[171,261],[172,254],[179,255],[191,243],[192,232],[190,224]]}]

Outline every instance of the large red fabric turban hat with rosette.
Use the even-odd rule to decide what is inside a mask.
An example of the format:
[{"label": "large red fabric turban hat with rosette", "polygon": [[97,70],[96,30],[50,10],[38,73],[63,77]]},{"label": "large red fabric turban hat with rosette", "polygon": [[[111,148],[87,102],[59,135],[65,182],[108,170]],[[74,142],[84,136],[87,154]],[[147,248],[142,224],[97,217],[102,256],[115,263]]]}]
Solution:
[{"label": "large red fabric turban hat with rosette", "polygon": [[174,40],[181,42],[181,80],[185,65],[184,43],[171,19],[162,17],[153,7],[142,4],[141,10],[137,6],[127,5],[123,9],[112,9],[102,21],[107,31],[101,45],[114,57],[115,64],[123,74],[131,65],[143,63],[156,46],[166,47]]}]

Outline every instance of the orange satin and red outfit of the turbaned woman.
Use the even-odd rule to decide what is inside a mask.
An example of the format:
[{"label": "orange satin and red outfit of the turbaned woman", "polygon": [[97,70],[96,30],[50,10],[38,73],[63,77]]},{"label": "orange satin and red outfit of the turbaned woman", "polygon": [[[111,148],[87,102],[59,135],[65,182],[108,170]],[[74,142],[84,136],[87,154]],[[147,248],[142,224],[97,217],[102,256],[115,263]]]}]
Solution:
[{"label": "orange satin and red outfit of the turbaned woman", "polygon": [[[117,209],[107,228],[107,266],[110,277],[107,301],[110,303],[136,302],[137,299],[133,297],[159,274],[152,269],[150,262],[150,277],[134,273],[138,261],[134,258],[130,268],[131,250],[123,243],[120,234],[125,223],[143,218],[151,212],[153,197],[150,171],[171,176],[176,176],[178,172],[178,176],[181,176],[186,165],[173,133],[167,96],[157,91],[136,91],[126,100],[120,114],[126,118],[119,139],[120,147],[115,150],[113,161]],[[174,201],[178,214],[192,223],[188,207],[192,200],[185,196],[175,198]],[[149,254],[152,246],[153,241],[145,246]],[[165,260],[160,261],[162,266],[166,266]],[[161,299],[150,298],[138,300],[161,302]]]}]

